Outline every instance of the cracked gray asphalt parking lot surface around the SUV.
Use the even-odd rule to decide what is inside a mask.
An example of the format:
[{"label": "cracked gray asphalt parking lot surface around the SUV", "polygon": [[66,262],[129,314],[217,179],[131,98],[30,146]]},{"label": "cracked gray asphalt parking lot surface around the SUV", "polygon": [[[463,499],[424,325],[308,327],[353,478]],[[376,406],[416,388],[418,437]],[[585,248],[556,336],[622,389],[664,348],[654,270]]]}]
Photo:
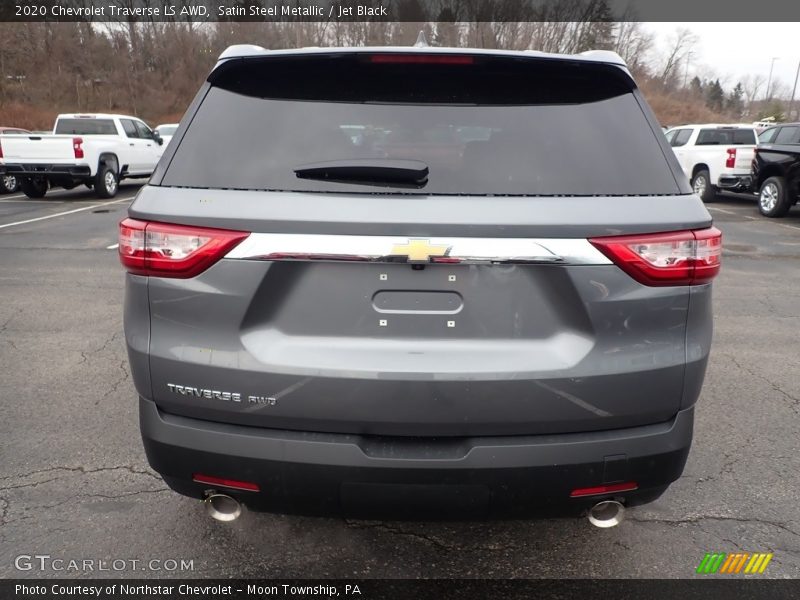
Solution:
[{"label": "cracked gray asphalt parking lot surface around the SUV", "polygon": [[[800,207],[768,220],[746,196],[709,205],[725,250],[694,445],[683,477],[621,526],[221,524],[141,447],[115,249],[137,190],[0,196],[0,577],[691,577],[712,551],[774,552],[765,575],[800,577]],[[17,568],[37,554],[64,570]]]}]

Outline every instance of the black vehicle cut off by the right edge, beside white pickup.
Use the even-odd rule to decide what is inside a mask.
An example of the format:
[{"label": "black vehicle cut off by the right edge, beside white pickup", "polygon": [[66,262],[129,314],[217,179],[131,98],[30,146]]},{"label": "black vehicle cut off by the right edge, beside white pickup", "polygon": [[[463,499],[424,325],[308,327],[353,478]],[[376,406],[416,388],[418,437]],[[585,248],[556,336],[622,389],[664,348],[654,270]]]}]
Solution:
[{"label": "black vehicle cut off by the right edge, beside white pickup", "polygon": [[800,123],[784,123],[758,135],[752,162],[753,189],[765,217],[783,217],[800,198]]}]

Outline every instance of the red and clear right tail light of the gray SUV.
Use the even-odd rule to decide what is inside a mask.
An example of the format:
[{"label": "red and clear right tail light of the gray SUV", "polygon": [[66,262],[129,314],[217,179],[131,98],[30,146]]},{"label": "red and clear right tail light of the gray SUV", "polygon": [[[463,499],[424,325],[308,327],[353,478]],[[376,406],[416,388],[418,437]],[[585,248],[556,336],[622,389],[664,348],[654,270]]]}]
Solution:
[{"label": "red and clear right tail light of the gray SUV", "polygon": [[650,286],[708,283],[719,273],[722,259],[722,232],[716,227],[589,241],[636,281]]}]

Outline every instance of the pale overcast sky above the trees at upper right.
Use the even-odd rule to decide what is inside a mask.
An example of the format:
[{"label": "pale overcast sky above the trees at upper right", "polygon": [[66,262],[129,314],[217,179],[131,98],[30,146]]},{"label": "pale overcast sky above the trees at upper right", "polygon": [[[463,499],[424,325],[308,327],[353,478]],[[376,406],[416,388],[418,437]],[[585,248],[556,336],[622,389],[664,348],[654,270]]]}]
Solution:
[{"label": "pale overcast sky above the trees at upper right", "polygon": [[[789,0],[797,1],[797,0]],[[780,80],[791,93],[800,63],[800,23],[644,23],[655,36],[655,48],[665,54],[669,40],[681,27],[698,37],[690,58],[689,79],[709,76],[713,71],[728,90],[745,75],[769,76],[775,61],[773,80]],[[727,80],[727,82],[726,82]],[[761,94],[766,92],[766,83]],[[795,97],[800,97],[800,83]]]}]

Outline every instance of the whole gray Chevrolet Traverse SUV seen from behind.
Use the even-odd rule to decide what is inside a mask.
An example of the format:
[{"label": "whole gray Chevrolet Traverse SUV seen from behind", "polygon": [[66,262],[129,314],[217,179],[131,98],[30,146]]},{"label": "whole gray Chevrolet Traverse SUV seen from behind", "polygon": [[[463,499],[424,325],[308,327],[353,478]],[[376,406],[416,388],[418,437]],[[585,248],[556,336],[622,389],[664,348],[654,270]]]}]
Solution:
[{"label": "whole gray Chevrolet Traverse SUV seen from behind", "polygon": [[120,224],[147,457],[284,512],[651,501],[720,243],[615,54],[233,47]]}]

